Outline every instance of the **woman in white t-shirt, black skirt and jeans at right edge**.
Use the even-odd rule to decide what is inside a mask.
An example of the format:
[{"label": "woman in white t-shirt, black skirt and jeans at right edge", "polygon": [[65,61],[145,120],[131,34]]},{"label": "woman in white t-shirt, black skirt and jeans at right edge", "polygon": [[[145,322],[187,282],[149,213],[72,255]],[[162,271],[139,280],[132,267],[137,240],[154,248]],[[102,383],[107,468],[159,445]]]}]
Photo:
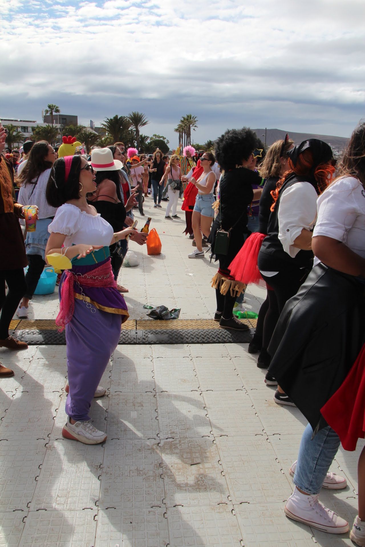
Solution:
[{"label": "woman in white t-shirt, black skirt and jeans at right edge", "polygon": [[[269,345],[273,356],[269,372],[309,422],[298,461],[291,469],[296,488],[286,503],[285,513],[328,533],[349,529],[344,519],[318,502],[322,485],[346,486],[344,478],[328,473],[340,444],[338,433],[350,450],[355,449],[358,437],[364,437],[363,387],[359,379],[351,377],[352,365],[364,342],[365,327],[364,173],[362,123],[351,135],[337,178],[318,197],[312,235],[314,267],[298,293],[287,301]],[[336,393],[349,371],[347,389]],[[328,404],[332,396],[334,400]],[[357,408],[355,401],[361,401]],[[351,428],[354,424],[361,427],[355,430]],[[358,516],[350,537],[364,545],[365,450],[360,456],[358,475]]]}]

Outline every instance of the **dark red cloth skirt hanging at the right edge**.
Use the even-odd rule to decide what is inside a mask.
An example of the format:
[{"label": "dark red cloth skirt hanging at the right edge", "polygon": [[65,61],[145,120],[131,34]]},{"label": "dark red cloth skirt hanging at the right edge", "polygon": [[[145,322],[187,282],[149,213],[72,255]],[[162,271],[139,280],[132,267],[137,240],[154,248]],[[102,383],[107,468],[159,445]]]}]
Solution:
[{"label": "dark red cloth skirt hanging at the right edge", "polygon": [[345,450],[356,450],[357,439],[365,438],[365,345],[341,387],[321,414],[338,434]]}]

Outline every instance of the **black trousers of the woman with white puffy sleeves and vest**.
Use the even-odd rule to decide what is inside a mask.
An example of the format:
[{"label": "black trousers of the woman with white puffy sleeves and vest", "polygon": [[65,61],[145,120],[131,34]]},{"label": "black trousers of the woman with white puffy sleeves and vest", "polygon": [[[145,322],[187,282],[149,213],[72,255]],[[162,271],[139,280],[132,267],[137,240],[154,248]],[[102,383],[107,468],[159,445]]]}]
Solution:
[{"label": "black trousers of the woman with white puffy sleeves and vest", "polygon": [[269,307],[263,324],[262,347],[267,350],[280,313],[289,298],[297,294],[309,270],[281,271],[272,277],[263,275],[264,281],[273,288],[268,290]]}]

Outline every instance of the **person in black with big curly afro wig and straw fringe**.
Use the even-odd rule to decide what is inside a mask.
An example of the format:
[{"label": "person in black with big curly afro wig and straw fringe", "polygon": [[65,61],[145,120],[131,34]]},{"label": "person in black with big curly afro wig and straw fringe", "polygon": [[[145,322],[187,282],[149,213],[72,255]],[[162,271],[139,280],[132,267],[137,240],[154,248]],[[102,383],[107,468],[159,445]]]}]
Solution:
[{"label": "person in black with big curly afro wig and straw fringe", "polygon": [[[219,269],[212,279],[216,289],[217,311],[215,321],[225,329],[248,330],[248,325],[241,323],[233,315],[233,306],[237,296],[245,289],[243,283],[236,282],[230,275],[229,264],[244,245],[248,236],[247,207],[253,199],[259,199],[262,190],[253,190],[252,184],[259,184],[258,173],[247,166],[251,162],[253,150],[257,147],[257,136],[249,127],[229,129],[219,137],[215,144],[216,159],[224,170],[219,185],[218,215],[213,222],[209,241],[212,253],[219,260]],[[217,230],[229,231],[226,253],[215,250]]]}]

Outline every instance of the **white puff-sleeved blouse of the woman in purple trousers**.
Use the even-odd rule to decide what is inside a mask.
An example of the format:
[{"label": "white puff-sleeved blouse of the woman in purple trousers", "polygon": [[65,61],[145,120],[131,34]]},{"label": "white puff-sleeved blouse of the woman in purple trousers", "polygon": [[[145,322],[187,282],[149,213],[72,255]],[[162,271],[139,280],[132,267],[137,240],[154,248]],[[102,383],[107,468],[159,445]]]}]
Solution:
[{"label": "white puff-sleeved blouse of the woman in purple trousers", "polygon": [[65,247],[85,243],[85,245],[103,245],[109,247],[113,238],[112,226],[100,214],[81,211],[76,205],[63,203],[57,209],[55,218],[48,226],[51,234],[65,234]]}]

